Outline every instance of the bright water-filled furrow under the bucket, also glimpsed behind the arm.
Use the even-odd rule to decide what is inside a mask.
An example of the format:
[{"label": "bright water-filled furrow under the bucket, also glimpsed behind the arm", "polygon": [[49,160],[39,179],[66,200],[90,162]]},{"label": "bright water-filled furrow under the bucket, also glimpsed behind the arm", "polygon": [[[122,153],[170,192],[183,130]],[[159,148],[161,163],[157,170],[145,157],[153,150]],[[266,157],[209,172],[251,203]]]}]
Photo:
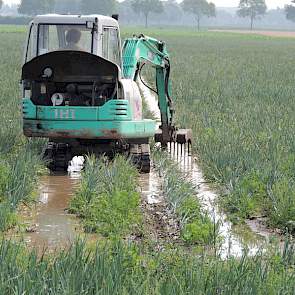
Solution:
[{"label": "bright water-filled furrow under the bucket, also glimpsed behind the arm", "polygon": [[[139,87],[144,96],[149,109],[155,118],[160,122],[160,112],[158,101],[155,95],[139,82]],[[188,175],[191,182],[195,185],[197,195],[211,219],[219,225],[219,233],[222,240],[220,254],[222,257],[243,255],[247,249],[250,255],[255,255],[258,251],[268,244],[272,234],[261,225],[254,221],[248,221],[247,225],[235,227],[227,220],[226,215],[218,208],[217,193],[212,190],[204,179],[201,169],[197,165],[196,158],[192,157],[184,146],[172,144],[169,154],[175,160],[181,170]]]}]

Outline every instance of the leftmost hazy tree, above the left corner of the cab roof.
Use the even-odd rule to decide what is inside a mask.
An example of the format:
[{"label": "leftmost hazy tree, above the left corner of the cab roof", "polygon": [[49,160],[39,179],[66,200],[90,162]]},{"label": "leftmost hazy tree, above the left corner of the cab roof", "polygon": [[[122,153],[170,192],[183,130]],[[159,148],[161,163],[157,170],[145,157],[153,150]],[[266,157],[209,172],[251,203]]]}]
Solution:
[{"label": "leftmost hazy tree, above the left corner of the cab roof", "polygon": [[18,12],[25,15],[36,15],[54,11],[55,0],[21,0]]}]

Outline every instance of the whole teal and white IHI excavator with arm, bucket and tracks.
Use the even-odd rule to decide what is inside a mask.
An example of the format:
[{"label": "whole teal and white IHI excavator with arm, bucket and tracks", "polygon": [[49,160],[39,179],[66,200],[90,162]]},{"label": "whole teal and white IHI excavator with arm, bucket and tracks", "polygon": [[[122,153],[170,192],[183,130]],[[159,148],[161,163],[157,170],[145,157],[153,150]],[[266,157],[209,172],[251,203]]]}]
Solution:
[{"label": "whole teal and white IHI excavator with arm, bucket and tracks", "polygon": [[[156,70],[159,128],[143,119],[136,81],[146,64]],[[51,171],[66,171],[75,156],[120,153],[148,173],[151,138],[163,148],[192,139],[174,125],[169,76],[165,43],[139,35],[121,45],[117,15],[36,16],[22,67],[24,134],[48,138]]]}]

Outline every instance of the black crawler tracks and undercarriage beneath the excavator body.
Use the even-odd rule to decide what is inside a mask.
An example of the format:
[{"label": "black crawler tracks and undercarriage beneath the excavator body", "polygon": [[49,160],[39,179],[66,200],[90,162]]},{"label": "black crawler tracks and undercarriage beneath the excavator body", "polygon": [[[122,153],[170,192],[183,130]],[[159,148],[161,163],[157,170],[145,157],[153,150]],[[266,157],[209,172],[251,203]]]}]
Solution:
[{"label": "black crawler tracks and undercarriage beneath the excavator body", "polygon": [[97,157],[107,156],[110,159],[117,154],[129,158],[131,163],[141,172],[149,173],[151,168],[150,146],[148,139],[140,143],[119,141],[78,141],[60,142],[50,140],[43,152],[43,158],[50,171],[67,171],[69,162],[75,156],[94,154]]}]

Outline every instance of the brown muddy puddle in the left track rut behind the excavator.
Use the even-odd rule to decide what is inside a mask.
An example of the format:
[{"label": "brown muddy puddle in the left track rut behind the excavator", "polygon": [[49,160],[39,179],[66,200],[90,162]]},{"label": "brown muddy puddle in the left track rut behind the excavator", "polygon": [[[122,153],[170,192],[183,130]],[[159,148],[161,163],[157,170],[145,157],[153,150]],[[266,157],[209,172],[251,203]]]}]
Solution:
[{"label": "brown muddy puddle in the left track rut behind the excavator", "polygon": [[37,213],[30,225],[31,232],[24,241],[37,249],[55,249],[70,245],[77,237],[79,220],[67,213],[70,199],[79,184],[82,157],[75,157],[68,174],[48,175],[41,178]]}]

